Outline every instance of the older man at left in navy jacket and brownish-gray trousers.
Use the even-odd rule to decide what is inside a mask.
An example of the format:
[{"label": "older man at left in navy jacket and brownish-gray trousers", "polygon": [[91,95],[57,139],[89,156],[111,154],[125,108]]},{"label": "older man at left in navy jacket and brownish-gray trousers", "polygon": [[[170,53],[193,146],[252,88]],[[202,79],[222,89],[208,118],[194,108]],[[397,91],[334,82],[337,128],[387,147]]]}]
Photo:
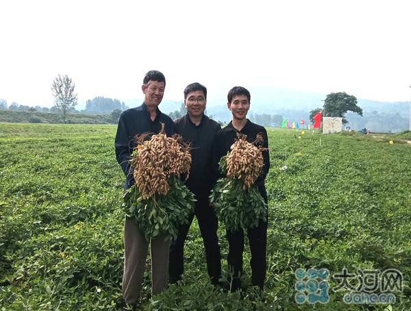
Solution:
[{"label": "older man at left in navy jacket and brownish-gray trousers", "polygon": [[[160,71],[149,71],[142,84],[142,92],[145,95],[144,103],[137,108],[125,110],[120,116],[114,146],[117,162],[121,165],[126,177],[125,190],[134,185],[129,160],[136,147],[136,135],[157,134],[160,132],[161,123],[164,123],[167,136],[173,134],[173,120],[158,109],[165,87],[164,75]],[[168,284],[170,242],[165,240],[165,236],[158,236],[152,238],[150,243],[153,282],[151,293],[155,295],[164,290]],[[124,246],[123,297],[125,303],[135,305],[140,297],[149,242],[145,239],[144,232],[140,232],[132,219],[125,219]]]}]

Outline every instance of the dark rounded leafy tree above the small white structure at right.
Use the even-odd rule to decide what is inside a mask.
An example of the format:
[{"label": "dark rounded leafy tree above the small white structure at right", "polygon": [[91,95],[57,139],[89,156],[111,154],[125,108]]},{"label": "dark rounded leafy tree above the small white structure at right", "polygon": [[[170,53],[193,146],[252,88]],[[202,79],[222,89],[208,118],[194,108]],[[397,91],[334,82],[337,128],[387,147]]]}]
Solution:
[{"label": "dark rounded leafy tree above the small white structure at right", "polygon": [[329,93],[324,101],[323,116],[339,116],[343,118],[343,124],[347,124],[345,119],[347,111],[352,111],[362,116],[362,109],[357,105],[357,99],[346,92]]}]

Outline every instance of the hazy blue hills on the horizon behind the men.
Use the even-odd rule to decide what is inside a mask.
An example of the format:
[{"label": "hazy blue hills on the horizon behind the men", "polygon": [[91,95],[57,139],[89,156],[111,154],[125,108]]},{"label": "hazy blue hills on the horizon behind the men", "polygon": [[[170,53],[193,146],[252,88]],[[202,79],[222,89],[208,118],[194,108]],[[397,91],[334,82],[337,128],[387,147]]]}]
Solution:
[{"label": "hazy blue hills on the horizon behind the men", "polygon": [[[310,110],[321,108],[325,94],[302,92],[270,86],[249,88],[251,92],[251,108],[253,114],[281,115],[291,122],[300,120],[308,124]],[[207,112],[217,121],[228,122],[232,116],[227,109],[226,94],[219,90],[218,94],[209,94]],[[160,110],[169,114],[179,110],[182,101],[164,100],[160,104]],[[125,103],[129,107],[135,107],[142,103],[142,99],[129,99]],[[360,130],[366,127],[372,132],[401,132],[408,129],[409,102],[373,101],[358,99],[358,105],[363,110],[363,116],[347,114],[347,121],[351,128]]]}]

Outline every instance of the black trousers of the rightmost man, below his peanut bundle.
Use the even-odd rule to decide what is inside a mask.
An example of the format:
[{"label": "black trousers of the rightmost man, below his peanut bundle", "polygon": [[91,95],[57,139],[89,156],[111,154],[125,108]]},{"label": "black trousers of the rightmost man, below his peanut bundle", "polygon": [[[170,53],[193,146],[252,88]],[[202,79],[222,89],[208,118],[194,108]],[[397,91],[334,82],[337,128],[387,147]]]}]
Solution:
[{"label": "black trousers of the rightmost man, below his peanut bundle", "polygon": [[[266,276],[267,223],[260,221],[256,228],[247,229],[247,235],[251,251],[251,281],[253,285],[260,287],[262,290]],[[229,245],[227,256],[229,279],[231,280],[232,290],[237,290],[241,286],[242,252],[244,251],[243,230],[234,232],[227,230],[227,240]]]}]

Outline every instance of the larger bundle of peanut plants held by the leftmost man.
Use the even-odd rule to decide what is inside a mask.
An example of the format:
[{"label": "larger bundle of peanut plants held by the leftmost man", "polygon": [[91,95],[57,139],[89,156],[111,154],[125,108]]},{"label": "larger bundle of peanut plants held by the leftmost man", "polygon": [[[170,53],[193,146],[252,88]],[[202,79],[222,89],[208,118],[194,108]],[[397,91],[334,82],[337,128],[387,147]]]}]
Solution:
[{"label": "larger bundle of peanut plants held by the leftmost man", "polygon": [[167,137],[164,129],[136,136],[131,158],[135,184],[125,192],[123,207],[147,240],[176,238],[177,227],[187,223],[195,198],[180,177],[188,178],[190,165],[190,145],[180,136]]}]

